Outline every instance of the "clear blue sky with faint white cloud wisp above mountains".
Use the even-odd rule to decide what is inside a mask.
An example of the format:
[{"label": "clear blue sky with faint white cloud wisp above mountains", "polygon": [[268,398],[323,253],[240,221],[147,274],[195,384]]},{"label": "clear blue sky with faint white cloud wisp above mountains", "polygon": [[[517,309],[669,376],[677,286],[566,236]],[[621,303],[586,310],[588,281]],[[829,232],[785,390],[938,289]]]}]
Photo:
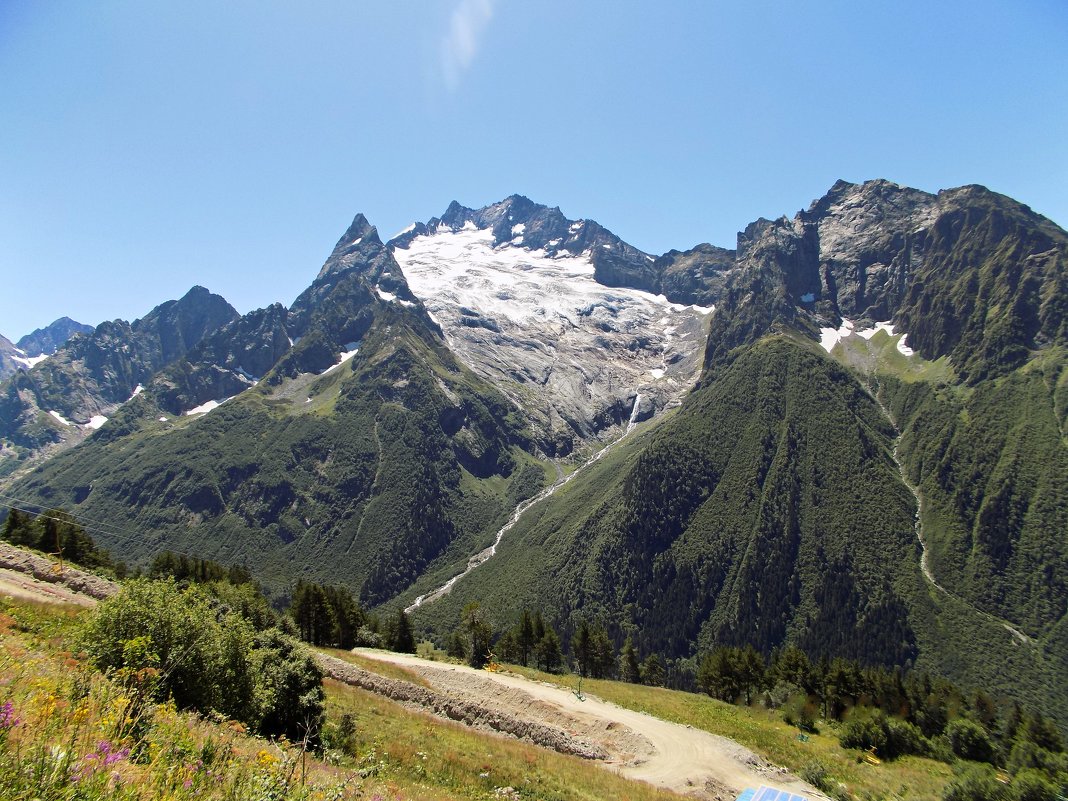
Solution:
[{"label": "clear blue sky with faint white cloud wisp above mountains", "polygon": [[289,303],[357,211],[513,192],[651,253],[839,177],[1066,225],[1066,131],[1063,0],[6,0],[0,333]]}]

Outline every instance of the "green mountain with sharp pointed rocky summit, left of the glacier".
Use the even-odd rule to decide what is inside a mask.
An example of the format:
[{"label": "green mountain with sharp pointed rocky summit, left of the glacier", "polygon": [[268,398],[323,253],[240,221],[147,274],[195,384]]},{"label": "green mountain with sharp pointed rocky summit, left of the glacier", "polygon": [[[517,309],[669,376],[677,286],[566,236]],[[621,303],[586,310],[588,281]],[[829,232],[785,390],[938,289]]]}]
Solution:
[{"label": "green mountain with sharp pointed rocky summit, left of the glacier", "polygon": [[[513,477],[540,485],[517,470],[535,464],[525,425],[421,304],[379,297],[391,263],[395,294],[411,295],[374,229],[361,233],[371,257],[328,262],[296,320],[262,310],[207,337],[11,494],[107,521],[94,535],[134,562],[169,549],[248,565],[276,593],[308,576],[372,604],[454,541],[482,547],[521,500]],[[235,373],[287,330],[299,341],[262,379]]]}]

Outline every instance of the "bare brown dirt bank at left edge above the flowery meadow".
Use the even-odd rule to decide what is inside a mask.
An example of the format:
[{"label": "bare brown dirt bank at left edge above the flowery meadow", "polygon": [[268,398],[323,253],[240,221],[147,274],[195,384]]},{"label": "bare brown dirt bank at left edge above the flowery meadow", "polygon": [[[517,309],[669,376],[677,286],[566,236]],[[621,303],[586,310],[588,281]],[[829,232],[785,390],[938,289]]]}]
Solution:
[{"label": "bare brown dirt bank at left edge above the flowery meadow", "polygon": [[112,581],[0,543],[0,595],[88,607],[117,592]]}]

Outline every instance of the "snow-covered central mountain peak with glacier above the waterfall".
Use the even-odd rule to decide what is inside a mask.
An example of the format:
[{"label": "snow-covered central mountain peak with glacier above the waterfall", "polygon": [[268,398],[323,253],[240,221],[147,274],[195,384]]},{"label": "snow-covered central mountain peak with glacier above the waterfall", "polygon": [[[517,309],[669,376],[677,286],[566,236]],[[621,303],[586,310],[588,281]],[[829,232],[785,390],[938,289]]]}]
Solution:
[{"label": "snow-covered central mountain peak with glacier above the waterfall", "polygon": [[602,281],[599,263],[651,261],[595,222],[514,195],[454,203],[390,246],[450,347],[528,411],[547,453],[644,420],[696,378],[709,310]]}]

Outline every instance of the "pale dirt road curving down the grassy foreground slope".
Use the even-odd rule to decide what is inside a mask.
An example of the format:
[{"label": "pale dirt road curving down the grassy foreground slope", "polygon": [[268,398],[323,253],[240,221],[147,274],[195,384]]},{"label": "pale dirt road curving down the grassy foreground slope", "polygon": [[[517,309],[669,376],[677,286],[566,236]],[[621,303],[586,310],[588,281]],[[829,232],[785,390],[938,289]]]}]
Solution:
[{"label": "pale dirt road curving down the grassy foreground slope", "polygon": [[[359,648],[356,653],[383,662],[415,669],[436,688],[456,692],[464,682],[472,691],[485,692],[486,681],[501,686],[498,694],[509,697],[508,690],[520,690],[538,702],[582,719],[596,719],[603,728],[626,727],[644,736],[651,744],[651,753],[642,759],[608,760],[606,768],[627,779],[633,779],[675,792],[702,799],[734,799],[747,787],[759,785],[826,799],[811,785],[775,767],[749,749],[726,737],[678,723],[669,723],[645,712],[610,704],[592,695],[580,700],[576,693],[562,687],[516,676],[514,674],[478,671],[467,665],[442,664],[407,654]],[[512,693],[514,694],[514,693]],[[536,714],[536,707],[527,705],[515,710],[517,714]]]}]

